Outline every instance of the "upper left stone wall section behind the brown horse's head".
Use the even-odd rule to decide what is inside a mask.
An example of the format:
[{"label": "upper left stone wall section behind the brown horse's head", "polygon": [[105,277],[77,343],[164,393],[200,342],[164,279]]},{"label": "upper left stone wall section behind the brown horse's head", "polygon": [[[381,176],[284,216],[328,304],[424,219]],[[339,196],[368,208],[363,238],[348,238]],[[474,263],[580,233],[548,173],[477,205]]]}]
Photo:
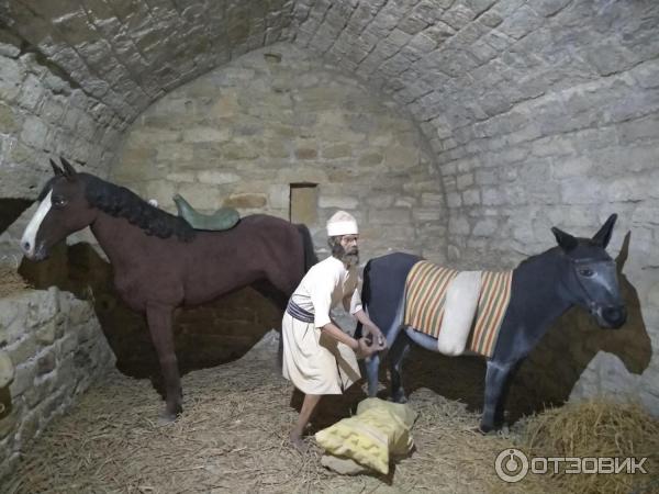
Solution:
[{"label": "upper left stone wall section behind the brown horse's head", "polygon": [[32,211],[21,213],[52,177],[48,158],[104,176],[124,126],[0,25],[0,260],[20,259],[18,239]]}]

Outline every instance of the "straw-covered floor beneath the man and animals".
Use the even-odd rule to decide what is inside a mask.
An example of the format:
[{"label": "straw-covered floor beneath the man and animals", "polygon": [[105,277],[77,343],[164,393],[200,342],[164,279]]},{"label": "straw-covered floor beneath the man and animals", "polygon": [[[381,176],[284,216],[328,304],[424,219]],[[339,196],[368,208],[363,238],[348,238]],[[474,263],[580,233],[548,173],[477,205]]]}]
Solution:
[{"label": "straw-covered floor beneath the man and animals", "polygon": [[[494,460],[511,447],[533,449],[534,453],[613,454],[612,439],[623,452],[650,454],[652,447],[659,451],[647,437],[657,433],[657,422],[637,408],[607,414],[607,404],[593,405],[600,406],[600,412],[562,407],[520,420],[505,435],[482,436],[474,431],[478,411],[469,412],[463,403],[420,388],[410,396],[410,405],[420,412],[412,454],[398,460],[388,476],[342,476],[321,465],[322,452],[313,437],[308,438],[311,448],[306,456],[289,446],[288,433],[301,400],[281,378],[272,351],[250,351],[237,361],[191,372],[182,384],[183,415],[174,424],[159,425],[163,402],[150,382],[111,372],[24,451],[19,469],[0,491],[565,492],[576,484],[566,483],[560,475],[527,475],[506,484],[496,476]],[[313,427],[348,416],[364,397],[361,389],[354,386],[344,396],[323,398]],[[563,415],[568,409],[574,422]],[[656,460],[646,463],[655,473]],[[647,484],[651,479],[635,476],[632,483],[622,484],[608,479],[605,489],[593,479],[587,481],[588,485],[577,485],[578,492],[630,492],[630,485],[640,486],[641,481]]]}]

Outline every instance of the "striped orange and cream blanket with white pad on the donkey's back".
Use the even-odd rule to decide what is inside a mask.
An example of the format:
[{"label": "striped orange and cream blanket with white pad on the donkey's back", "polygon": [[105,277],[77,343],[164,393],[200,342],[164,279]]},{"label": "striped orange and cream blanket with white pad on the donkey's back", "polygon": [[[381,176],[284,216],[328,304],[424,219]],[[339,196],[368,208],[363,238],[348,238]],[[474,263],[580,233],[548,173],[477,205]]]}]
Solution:
[{"label": "striped orange and cream blanket with white pad on the donkey's back", "polygon": [[438,340],[438,350],[491,357],[511,300],[513,271],[457,271],[416,262],[405,281],[403,322]]}]

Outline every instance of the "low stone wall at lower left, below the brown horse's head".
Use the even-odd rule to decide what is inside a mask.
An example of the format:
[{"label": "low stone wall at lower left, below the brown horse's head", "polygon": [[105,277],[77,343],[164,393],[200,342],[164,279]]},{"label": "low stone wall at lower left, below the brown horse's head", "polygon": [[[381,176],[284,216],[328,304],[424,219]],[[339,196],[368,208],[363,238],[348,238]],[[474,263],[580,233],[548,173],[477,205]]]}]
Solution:
[{"label": "low stone wall at lower left, below the brown horse's head", "polygon": [[56,288],[0,299],[0,482],[113,363],[89,302]]}]

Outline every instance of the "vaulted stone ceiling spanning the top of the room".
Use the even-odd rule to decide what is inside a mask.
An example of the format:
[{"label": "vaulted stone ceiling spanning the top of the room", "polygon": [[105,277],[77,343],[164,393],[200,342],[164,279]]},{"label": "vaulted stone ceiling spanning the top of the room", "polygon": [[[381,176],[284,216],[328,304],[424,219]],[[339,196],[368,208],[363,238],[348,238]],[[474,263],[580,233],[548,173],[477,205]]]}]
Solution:
[{"label": "vaulted stone ceiling spanning the top of the room", "polygon": [[[572,0],[11,0],[2,21],[131,122],[153,101],[281,40],[383,89],[436,151],[479,122],[659,54],[659,4]],[[554,102],[548,103],[549,106]],[[514,124],[513,124],[514,125]],[[448,141],[448,138],[451,141]]]}]

